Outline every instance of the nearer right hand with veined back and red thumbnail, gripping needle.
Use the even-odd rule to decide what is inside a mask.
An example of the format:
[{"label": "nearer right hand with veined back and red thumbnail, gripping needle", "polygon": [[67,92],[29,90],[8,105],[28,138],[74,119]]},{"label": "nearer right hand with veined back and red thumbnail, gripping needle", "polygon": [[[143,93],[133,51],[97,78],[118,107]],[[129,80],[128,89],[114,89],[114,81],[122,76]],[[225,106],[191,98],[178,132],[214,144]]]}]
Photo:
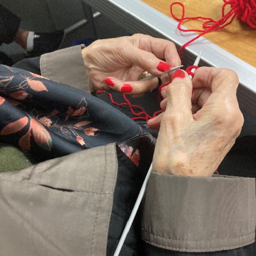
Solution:
[{"label": "nearer right hand with veined back and red thumbnail, gripping needle", "polygon": [[[198,88],[193,95],[192,82],[193,88]],[[165,112],[162,117],[148,122],[155,128],[162,119],[153,170],[211,176],[233,146],[243,125],[237,87],[237,74],[229,69],[201,67],[195,72],[193,81],[186,72],[176,71],[166,89]]]}]

